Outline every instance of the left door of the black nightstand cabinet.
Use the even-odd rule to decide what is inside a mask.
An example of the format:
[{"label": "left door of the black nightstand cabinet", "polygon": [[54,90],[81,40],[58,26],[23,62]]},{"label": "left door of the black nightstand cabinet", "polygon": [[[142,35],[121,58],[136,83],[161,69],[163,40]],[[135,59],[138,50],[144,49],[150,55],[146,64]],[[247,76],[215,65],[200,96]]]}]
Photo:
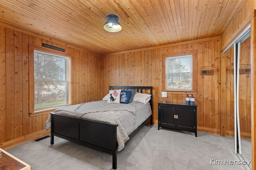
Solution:
[{"label": "left door of the black nightstand cabinet", "polygon": [[176,115],[176,107],[168,105],[160,105],[159,107],[160,124],[166,127],[176,127],[176,120],[174,118],[174,115]]}]

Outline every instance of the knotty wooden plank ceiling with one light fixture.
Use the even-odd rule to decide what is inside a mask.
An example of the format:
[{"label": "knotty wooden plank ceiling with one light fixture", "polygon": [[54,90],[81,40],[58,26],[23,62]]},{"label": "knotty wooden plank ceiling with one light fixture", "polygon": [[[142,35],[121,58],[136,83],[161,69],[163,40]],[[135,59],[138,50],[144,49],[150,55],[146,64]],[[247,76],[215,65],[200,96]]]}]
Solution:
[{"label": "knotty wooden plank ceiling with one light fixture", "polygon": [[[103,55],[220,36],[246,1],[1,0],[0,20]],[[103,29],[108,14],[122,30]]]}]

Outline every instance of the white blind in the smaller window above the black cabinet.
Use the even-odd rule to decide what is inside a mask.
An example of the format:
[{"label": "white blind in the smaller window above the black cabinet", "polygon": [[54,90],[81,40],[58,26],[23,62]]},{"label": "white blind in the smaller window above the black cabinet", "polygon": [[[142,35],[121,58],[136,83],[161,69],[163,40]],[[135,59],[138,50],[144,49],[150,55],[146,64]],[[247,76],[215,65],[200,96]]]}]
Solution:
[{"label": "white blind in the smaller window above the black cabinet", "polygon": [[166,90],[192,90],[192,55],[166,58]]}]

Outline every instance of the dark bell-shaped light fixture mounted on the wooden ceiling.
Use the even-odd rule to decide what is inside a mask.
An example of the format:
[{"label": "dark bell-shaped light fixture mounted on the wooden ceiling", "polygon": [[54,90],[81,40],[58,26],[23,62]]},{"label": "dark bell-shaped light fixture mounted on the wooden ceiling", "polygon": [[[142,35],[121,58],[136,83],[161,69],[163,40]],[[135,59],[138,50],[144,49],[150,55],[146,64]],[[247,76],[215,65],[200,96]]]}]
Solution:
[{"label": "dark bell-shaped light fixture mounted on the wooden ceiling", "polygon": [[107,16],[107,21],[104,24],[104,29],[109,32],[118,32],[122,29],[122,26],[118,22],[118,16],[110,14]]}]

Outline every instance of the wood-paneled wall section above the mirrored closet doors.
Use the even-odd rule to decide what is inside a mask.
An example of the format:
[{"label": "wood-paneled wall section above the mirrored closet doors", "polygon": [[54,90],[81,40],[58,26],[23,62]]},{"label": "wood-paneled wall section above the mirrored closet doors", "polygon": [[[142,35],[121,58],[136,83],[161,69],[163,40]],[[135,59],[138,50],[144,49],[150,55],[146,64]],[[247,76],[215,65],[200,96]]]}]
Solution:
[{"label": "wood-paneled wall section above the mirrored closet doors", "polygon": [[239,12],[232,18],[222,35],[222,50],[251,22],[254,16],[254,9],[256,9],[256,0],[247,0],[244,6],[239,9]]}]

